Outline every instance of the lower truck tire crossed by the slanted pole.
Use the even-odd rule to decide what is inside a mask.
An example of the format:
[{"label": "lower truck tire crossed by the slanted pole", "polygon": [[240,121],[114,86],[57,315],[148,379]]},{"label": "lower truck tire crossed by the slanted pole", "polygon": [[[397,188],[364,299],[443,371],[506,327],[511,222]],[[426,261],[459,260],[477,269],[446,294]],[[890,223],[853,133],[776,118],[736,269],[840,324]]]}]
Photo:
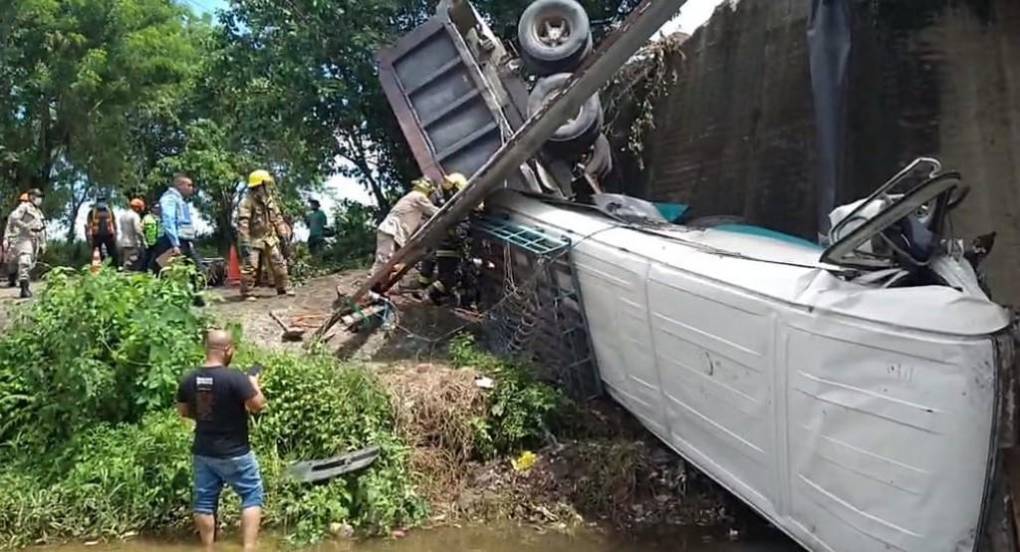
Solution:
[{"label": "lower truck tire crossed by the slanted pole", "polygon": [[[563,88],[569,79],[570,73],[567,72],[540,79],[527,98],[527,116],[530,117],[539,111],[546,100]],[[602,102],[599,101],[598,94],[593,94],[574,117],[556,130],[552,138],[546,142],[544,149],[556,157],[576,157],[592,147],[601,131]]]}]

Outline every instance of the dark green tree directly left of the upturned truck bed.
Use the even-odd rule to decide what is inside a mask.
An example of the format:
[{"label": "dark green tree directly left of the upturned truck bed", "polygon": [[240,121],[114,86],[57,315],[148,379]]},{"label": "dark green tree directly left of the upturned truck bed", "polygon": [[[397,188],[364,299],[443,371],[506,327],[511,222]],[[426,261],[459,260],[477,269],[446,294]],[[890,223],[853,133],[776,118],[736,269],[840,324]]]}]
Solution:
[{"label": "dark green tree directly left of the upturned truck bed", "polygon": [[[375,50],[428,15],[418,0],[234,0],[221,84],[246,134],[298,172],[345,171],[379,204],[414,172],[375,71]],[[275,140],[273,140],[275,139]],[[300,157],[296,157],[298,155]],[[337,160],[340,163],[337,163]]]}]

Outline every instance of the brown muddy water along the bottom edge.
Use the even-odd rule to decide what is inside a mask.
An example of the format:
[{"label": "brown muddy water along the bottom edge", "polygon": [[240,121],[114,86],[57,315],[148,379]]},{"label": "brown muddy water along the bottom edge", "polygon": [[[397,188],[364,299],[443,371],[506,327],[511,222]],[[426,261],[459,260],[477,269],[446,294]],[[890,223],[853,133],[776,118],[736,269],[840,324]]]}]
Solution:
[{"label": "brown muddy water along the bottom edge", "polygon": [[[68,545],[33,549],[34,552],[195,552],[191,544],[159,541],[131,541],[93,546]],[[217,546],[222,552],[239,552],[233,537]],[[262,552],[288,552],[285,544],[265,540]],[[449,528],[414,531],[404,539],[379,539],[362,543],[330,542],[308,552],[795,552],[801,549],[779,537],[767,542],[728,542],[706,534],[687,533],[660,539],[622,539],[590,531],[571,534],[538,533],[508,525]]]}]

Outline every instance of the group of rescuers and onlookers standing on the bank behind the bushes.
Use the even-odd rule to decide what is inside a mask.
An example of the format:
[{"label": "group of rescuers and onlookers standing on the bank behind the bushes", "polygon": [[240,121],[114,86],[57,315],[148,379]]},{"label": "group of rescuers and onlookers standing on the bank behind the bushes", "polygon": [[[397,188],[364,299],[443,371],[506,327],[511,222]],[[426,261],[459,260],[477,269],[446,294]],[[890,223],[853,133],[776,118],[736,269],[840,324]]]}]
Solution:
[{"label": "group of rescuers and onlookers standing on the bank behind the bushes", "polygon": [[[241,295],[249,301],[256,300],[254,289],[262,266],[267,266],[271,273],[277,294],[294,295],[288,270],[288,245],[293,232],[272,192],[273,184],[267,170],[253,171],[238,207],[234,230],[241,260]],[[418,228],[466,185],[467,179],[457,172],[446,175],[439,186],[427,177],[414,181],[410,192],[397,201],[376,229],[372,271],[381,269]],[[178,257],[202,266],[190,201],[194,193],[194,182],[187,174],[176,174],[156,203],[149,206],[143,198],[132,198],[129,209],[119,216],[109,198],[100,195],[86,215],[84,229],[93,259],[99,262],[109,259],[125,270],[154,273]],[[9,286],[19,286],[20,296],[28,298],[32,297],[31,272],[46,250],[46,217],[40,208],[43,202],[40,190],[29,190],[19,199],[4,230],[3,267]],[[309,201],[304,220],[308,227],[308,249],[313,256],[319,256],[330,232],[317,200]],[[473,271],[465,263],[469,249],[466,224],[466,220],[453,224],[440,246],[419,266],[416,285],[437,304],[450,298],[461,305],[472,301]]]}]

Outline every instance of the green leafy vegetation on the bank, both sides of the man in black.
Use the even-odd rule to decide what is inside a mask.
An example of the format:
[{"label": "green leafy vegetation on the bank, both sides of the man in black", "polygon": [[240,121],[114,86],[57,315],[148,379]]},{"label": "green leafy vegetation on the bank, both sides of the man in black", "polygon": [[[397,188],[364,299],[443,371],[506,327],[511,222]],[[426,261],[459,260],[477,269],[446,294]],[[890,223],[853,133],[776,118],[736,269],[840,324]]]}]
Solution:
[{"label": "green leafy vegetation on the bank, both sides of the man in black", "polygon": [[[200,361],[202,332],[213,320],[190,307],[187,275],[55,271],[0,337],[0,548],[189,526],[191,426],[172,397],[178,378]],[[500,383],[478,394],[474,370],[455,370],[468,374],[460,378],[474,404],[452,411],[460,403],[427,393],[438,397],[428,414],[408,407],[386,374],[242,341],[236,363],[267,366],[270,407],[252,431],[266,526],[296,543],[347,528],[375,535],[413,526],[428,516],[424,483],[453,465],[541,444],[560,396],[525,370],[477,354],[469,340],[454,352],[461,365]],[[405,383],[412,393],[415,384]],[[382,453],[359,473],[322,486],[284,476],[290,461],[367,445]],[[454,463],[422,461],[425,449]],[[233,523],[237,500],[226,496],[220,516]]]}]

